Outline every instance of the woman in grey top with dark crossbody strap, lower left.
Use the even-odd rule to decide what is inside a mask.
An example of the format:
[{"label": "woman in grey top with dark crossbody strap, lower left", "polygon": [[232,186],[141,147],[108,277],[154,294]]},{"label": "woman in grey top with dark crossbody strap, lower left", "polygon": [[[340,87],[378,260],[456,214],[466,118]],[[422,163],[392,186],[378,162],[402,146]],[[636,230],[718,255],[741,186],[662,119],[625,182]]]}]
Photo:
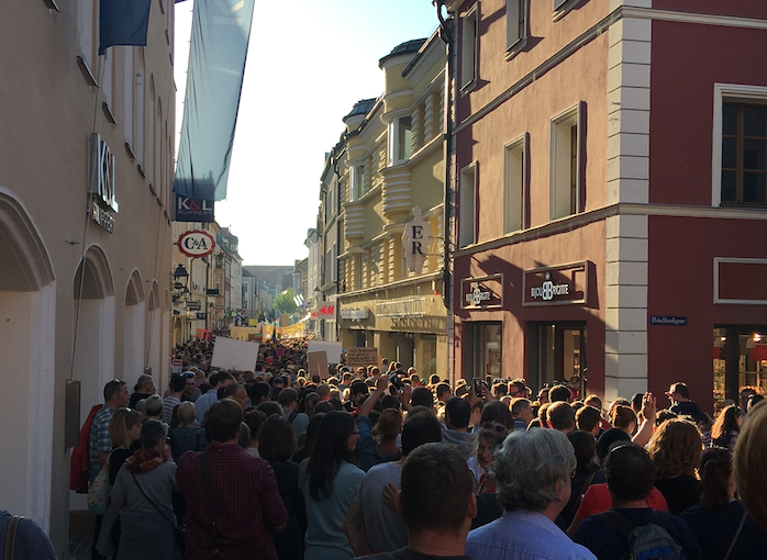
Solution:
[{"label": "woman in grey top with dark crossbody strap, lower left", "polygon": [[120,548],[115,560],[166,560],[176,557],[173,492],[176,463],[165,449],[165,427],[147,421],[141,427],[141,449],[118,472],[103,519],[98,550],[114,553],[110,538],[120,516]]}]

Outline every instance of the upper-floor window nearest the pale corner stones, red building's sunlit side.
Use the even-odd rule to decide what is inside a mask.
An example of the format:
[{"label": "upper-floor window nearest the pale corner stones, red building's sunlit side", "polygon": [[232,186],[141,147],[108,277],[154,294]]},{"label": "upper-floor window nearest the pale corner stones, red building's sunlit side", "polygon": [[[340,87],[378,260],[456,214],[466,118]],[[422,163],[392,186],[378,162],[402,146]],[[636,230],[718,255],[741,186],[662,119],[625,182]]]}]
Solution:
[{"label": "upper-floor window nearest the pale corner stones, red building's sunlit side", "polygon": [[552,220],[581,211],[581,107],[552,120]]}]

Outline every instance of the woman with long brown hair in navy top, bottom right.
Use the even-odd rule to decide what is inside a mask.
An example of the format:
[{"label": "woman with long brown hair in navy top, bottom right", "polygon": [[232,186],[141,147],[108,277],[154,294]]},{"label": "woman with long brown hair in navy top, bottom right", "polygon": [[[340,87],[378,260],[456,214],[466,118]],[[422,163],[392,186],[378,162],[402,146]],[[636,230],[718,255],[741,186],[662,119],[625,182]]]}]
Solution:
[{"label": "woman with long brown hair in navy top, bottom right", "polygon": [[748,517],[735,499],[732,453],[713,447],[700,456],[700,504],[685,509],[681,518],[692,528],[704,560],[764,559],[767,533]]}]

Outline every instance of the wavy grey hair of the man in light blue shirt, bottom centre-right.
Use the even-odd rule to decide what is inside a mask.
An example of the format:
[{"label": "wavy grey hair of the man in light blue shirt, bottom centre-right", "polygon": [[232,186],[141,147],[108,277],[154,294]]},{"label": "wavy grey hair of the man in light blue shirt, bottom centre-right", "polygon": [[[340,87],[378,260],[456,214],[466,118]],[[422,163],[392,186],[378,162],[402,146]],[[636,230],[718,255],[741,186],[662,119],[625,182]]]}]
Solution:
[{"label": "wavy grey hair of the man in light blue shirt, bottom centre-right", "polygon": [[496,451],[490,468],[498,502],[508,511],[542,512],[556,501],[556,483],[570,483],[576,463],[573,445],[562,432],[512,432]]}]

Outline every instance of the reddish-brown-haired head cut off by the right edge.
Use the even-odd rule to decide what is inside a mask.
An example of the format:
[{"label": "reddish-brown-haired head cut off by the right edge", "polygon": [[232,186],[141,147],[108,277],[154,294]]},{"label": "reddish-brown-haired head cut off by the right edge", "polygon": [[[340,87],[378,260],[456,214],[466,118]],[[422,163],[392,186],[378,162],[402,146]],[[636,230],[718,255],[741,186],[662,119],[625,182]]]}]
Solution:
[{"label": "reddish-brown-haired head cut off by the right edge", "polygon": [[737,436],[733,466],[743,506],[767,530],[767,403],[755,405]]}]

